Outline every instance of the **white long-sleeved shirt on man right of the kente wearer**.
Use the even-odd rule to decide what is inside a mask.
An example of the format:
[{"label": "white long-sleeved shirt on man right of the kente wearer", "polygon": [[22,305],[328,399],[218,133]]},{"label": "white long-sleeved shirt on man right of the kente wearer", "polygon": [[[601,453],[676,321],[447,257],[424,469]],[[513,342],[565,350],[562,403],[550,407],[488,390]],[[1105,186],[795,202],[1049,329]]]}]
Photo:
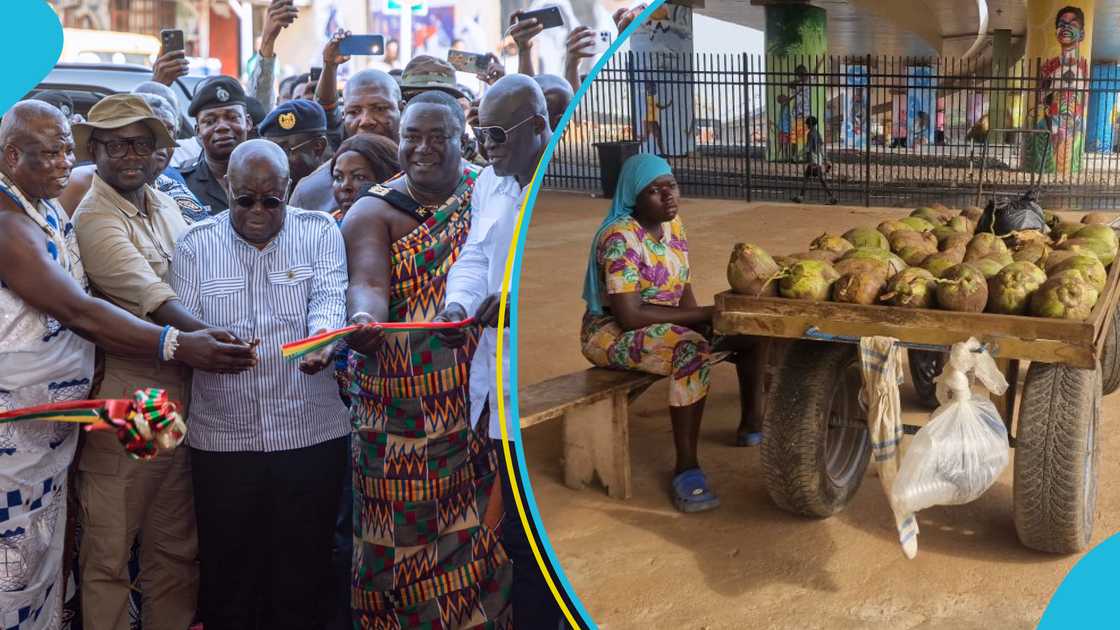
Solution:
[{"label": "white long-sleeved shirt on man right of the kente wearer", "polygon": [[[487,166],[475,182],[470,197],[470,233],[463,253],[447,277],[447,304],[458,304],[474,316],[487,295],[502,290],[505,263],[512,249],[517,213],[525,201],[525,189],[511,177],[498,177]],[[502,391],[505,395],[506,436],[516,439],[510,406],[510,322],[502,330]],[[489,434],[501,439],[497,414],[497,328],[484,328],[470,362],[470,421],[478,424],[489,400]]]}]

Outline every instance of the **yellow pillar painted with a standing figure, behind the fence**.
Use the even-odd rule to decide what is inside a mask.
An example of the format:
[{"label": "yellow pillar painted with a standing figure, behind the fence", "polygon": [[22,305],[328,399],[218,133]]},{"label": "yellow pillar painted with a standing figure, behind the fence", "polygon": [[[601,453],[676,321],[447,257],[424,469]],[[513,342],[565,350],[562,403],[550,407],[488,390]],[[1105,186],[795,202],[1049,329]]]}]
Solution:
[{"label": "yellow pillar painted with a standing figure, behind the fence", "polygon": [[[1024,140],[1025,169],[1055,173],[1060,178],[1081,172],[1085,145],[1084,90],[1093,50],[1095,0],[1029,0],[1027,54],[1039,82],[1028,98],[1027,123],[1051,136]],[[1045,163],[1043,158],[1045,156]]]}]

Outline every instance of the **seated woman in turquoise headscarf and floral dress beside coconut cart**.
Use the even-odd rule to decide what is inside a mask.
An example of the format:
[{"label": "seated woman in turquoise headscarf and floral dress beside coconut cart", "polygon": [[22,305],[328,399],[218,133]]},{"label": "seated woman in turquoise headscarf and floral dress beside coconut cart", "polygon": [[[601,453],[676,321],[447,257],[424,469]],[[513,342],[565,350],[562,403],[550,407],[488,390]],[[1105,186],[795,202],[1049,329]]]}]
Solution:
[{"label": "seated woman in turquoise headscarf and floral dress beside coconut cart", "polygon": [[584,356],[596,365],[672,377],[673,503],[698,512],[719,506],[697,461],[711,353],[698,331],[711,324],[712,307],[697,305],[689,284],[679,198],[664,159],[640,154],[623,165],[587,263],[580,342]]}]

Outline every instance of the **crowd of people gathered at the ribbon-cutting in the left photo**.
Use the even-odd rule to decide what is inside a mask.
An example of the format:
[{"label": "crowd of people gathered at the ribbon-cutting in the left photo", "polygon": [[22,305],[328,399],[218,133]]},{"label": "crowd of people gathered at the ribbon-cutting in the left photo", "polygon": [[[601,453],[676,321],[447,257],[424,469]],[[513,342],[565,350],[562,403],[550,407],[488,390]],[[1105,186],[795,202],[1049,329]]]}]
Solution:
[{"label": "crowd of people gathered at the ribbon-cutting in the left photo", "polygon": [[84,118],[37,94],[0,121],[0,411],[158,388],[188,425],[137,461],[111,433],[0,424],[2,628],[59,628],[71,583],[86,630],[129,627],[137,590],[149,630],[561,623],[508,513],[495,351],[516,215],[580,77],[495,58],[477,98],[418,56],[339,90],[339,33],[317,82],[278,81],[297,17],[272,3],[248,86],[198,84],[193,138],[181,52]]}]

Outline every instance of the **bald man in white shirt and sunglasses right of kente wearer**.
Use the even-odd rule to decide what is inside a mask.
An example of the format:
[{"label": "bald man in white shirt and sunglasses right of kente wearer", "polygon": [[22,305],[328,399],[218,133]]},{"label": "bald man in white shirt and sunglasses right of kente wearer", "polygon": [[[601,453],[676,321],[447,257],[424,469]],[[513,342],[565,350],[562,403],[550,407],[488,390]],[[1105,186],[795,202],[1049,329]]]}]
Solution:
[{"label": "bald man in white shirt and sunglasses right of kente wearer", "polygon": [[[510,317],[506,314],[502,337],[501,377],[497,365],[497,321],[502,278],[512,250],[513,230],[529,193],[541,156],[552,137],[548,105],[540,86],[523,74],[511,74],[497,81],[483,98],[478,110],[479,127],[475,130],[491,158],[475,183],[472,198],[470,233],[463,256],[451,267],[447,279],[447,298],[436,321],[461,321],[473,315],[484,326],[482,339],[470,363],[470,418],[476,424],[489,424],[489,436],[502,438],[497,420],[497,379],[502,379],[506,415],[506,439],[516,439],[517,427],[508,416],[510,407]],[[457,348],[465,341],[461,332],[440,334],[446,343]],[[500,451],[502,452],[502,451]],[[503,454],[504,457],[504,454]],[[513,490],[506,467],[500,467],[502,503],[506,517],[502,522],[502,546],[513,559],[513,627],[557,628],[559,608],[536,566],[529,539],[515,513]]]}]

